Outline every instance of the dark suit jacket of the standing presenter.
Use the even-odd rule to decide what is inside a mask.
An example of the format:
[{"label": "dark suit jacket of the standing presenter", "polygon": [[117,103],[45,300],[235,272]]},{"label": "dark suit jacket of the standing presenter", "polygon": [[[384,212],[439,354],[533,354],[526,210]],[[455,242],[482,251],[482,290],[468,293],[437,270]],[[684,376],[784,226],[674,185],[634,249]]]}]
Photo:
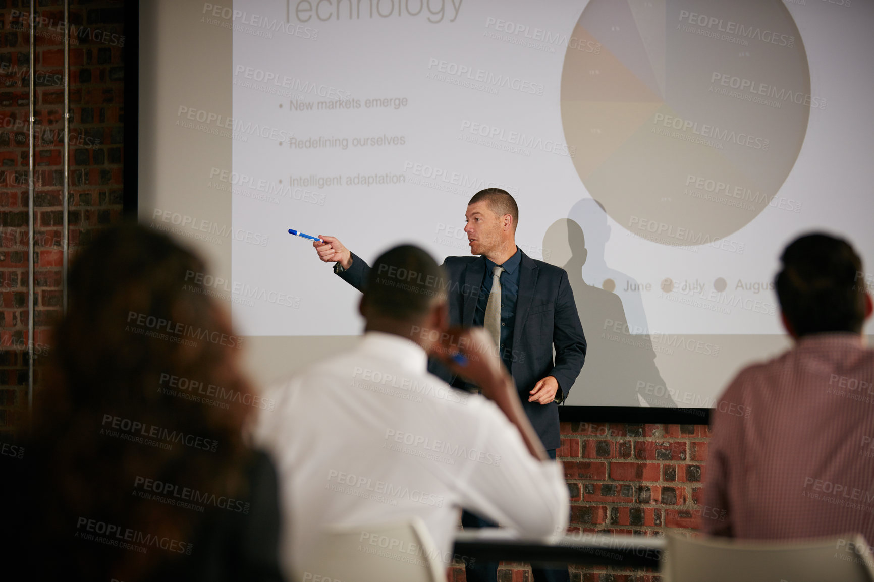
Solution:
[{"label": "dark suit jacket of the standing presenter", "polygon": [[[482,257],[447,257],[443,268],[449,278],[447,289],[449,319],[452,325],[472,327],[476,299],[485,274]],[[352,265],[339,276],[359,291],[364,290],[370,268],[364,260],[352,253]],[[522,253],[519,265],[519,294],[516,304],[516,323],[513,329],[513,362],[510,374],[516,381],[519,398],[531,425],[537,431],[546,449],[558,448],[558,405],[529,403],[528,392],[538,380],[554,376],[558,387],[567,396],[573,381],[579,376],[586,359],[586,336],[579,323],[573,291],[567,273],[542,260],[533,260]],[[555,344],[555,360],[552,345]],[[450,385],[463,386],[445,366],[432,358],[428,371]],[[558,394],[556,394],[558,398]]]}]

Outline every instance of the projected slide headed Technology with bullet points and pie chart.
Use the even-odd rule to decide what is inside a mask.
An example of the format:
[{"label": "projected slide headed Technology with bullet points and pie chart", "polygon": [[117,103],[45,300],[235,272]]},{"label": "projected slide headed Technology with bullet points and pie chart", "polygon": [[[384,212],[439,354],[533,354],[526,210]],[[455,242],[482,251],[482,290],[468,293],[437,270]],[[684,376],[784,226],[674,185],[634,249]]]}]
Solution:
[{"label": "projected slide headed Technology with bullet points and pie chart", "polygon": [[572,284],[589,353],[569,403],[709,406],[785,346],[790,240],[825,230],[874,260],[871,3],[236,0],[204,18],[232,29],[232,120],[207,121],[232,164],[209,188],[253,233],[220,289],[247,336],[360,333],[360,295],[289,228],[442,260],[469,254],[467,201],[499,186],[517,246]]}]

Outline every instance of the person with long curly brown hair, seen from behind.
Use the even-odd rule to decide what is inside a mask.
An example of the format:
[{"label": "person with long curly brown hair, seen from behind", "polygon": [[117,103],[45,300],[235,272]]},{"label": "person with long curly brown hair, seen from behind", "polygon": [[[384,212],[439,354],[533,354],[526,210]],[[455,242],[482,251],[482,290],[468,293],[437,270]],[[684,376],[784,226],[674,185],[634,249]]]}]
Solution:
[{"label": "person with long curly brown hair, seen from behind", "polygon": [[211,281],[139,225],[75,260],[14,460],[27,579],[281,580],[274,467],[244,441],[269,402]]}]

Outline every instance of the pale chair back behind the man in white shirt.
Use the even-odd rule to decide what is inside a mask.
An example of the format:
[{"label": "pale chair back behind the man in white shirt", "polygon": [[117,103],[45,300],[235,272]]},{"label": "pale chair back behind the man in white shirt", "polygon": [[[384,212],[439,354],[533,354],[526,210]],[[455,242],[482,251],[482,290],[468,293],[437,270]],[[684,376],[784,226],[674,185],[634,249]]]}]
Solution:
[{"label": "pale chair back behind the man in white shirt", "polygon": [[295,565],[300,582],[446,582],[446,568],[419,517],[399,522],[332,527],[318,550]]}]

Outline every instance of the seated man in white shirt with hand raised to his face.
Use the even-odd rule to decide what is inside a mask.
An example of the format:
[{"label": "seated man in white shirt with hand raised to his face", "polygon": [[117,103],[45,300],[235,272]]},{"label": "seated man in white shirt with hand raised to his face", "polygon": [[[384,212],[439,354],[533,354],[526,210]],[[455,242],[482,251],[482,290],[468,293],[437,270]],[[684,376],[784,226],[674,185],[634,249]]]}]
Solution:
[{"label": "seated man in white shirt with hand raised to his face", "polygon": [[[361,342],[267,394],[276,405],[263,411],[256,438],[279,468],[291,577],[329,526],[418,516],[444,565],[462,507],[524,537],[564,532],[561,464],[545,454],[485,329],[447,329],[443,281],[422,249],[387,251],[361,299]],[[466,362],[454,362],[458,353]],[[482,396],[429,374],[428,355]]]}]

